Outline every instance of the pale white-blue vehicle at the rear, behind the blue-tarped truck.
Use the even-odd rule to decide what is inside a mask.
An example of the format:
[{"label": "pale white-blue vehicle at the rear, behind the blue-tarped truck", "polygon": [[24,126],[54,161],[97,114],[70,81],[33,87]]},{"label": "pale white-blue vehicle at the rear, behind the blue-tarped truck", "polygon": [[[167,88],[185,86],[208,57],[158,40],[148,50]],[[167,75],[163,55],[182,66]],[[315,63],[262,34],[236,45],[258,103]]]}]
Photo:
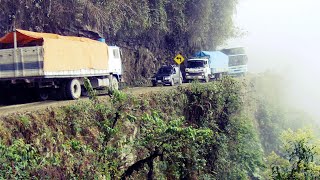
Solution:
[{"label": "pale white-blue vehicle at the rear, behind the blue-tarped truck", "polygon": [[221,51],[229,56],[228,75],[242,76],[248,72],[248,56],[243,47],[222,49]]}]

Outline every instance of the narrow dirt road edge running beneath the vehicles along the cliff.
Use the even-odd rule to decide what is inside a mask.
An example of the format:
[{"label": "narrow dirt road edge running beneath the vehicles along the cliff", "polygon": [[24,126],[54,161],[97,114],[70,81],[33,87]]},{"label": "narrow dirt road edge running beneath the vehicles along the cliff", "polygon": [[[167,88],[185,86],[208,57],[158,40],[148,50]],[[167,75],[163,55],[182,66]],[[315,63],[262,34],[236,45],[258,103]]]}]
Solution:
[{"label": "narrow dirt road edge running beneath the vehicles along the cliff", "polygon": [[[124,89],[122,91],[133,94],[133,95],[139,95],[139,94],[145,94],[148,92],[159,92],[159,91],[165,91],[172,88],[176,88],[176,86],[160,86],[160,87],[136,87],[136,88],[128,88]],[[99,98],[106,98],[105,96],[99,96]],[[7,116],[9,114],[15,114],[15,113],[23,113],[23,112],[32,112],[37,110],[43,110],[49,107],[61,107],[61,106],[67,106],[74,104],[78,101],[87,101],[88,98],[81,98],[79,100],[68,100],[68,101],[41,101],[41,102],[32,102],[32,103],[26,103],[26,104],[16,104],[16,105],[9,105],[9,106],[0,106],[0,116]]]}]

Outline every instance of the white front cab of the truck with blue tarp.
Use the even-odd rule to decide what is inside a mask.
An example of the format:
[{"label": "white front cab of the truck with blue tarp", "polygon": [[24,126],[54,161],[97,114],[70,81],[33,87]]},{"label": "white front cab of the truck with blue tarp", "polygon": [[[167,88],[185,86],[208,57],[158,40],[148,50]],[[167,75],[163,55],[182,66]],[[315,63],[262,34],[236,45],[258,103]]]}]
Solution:
[{"label": "white front cab of the truck with blue tarp", "polygon": [[185,72],[187,81],[198,79],[208,82],[211,78],[209,58],[204,57],[188,59]]}]

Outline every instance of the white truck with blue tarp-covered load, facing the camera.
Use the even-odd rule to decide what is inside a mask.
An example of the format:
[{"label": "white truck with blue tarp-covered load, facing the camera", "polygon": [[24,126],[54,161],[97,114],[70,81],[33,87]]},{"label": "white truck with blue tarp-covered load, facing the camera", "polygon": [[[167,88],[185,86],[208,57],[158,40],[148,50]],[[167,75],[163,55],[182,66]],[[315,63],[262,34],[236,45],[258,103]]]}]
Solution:
[{"label": "white truck with blue tarp-covered load, facing the camera", "polygon": [[209,82],[210,79],[220,78],[228,73],[229,58],[220,51],[200,51],[187,60],[185,77],[187,81],[201,80]]}]

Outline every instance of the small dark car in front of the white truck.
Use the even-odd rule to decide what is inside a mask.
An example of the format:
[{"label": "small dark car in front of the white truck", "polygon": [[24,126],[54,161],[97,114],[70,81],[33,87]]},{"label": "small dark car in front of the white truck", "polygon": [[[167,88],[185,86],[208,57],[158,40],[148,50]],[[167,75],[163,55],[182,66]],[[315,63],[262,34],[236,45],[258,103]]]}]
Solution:
[{"label": "small dark car in front of the white truck", "polygon": [[182,73],[178,66],[165,65],[151,78],[152,86],[182,84]]}]

